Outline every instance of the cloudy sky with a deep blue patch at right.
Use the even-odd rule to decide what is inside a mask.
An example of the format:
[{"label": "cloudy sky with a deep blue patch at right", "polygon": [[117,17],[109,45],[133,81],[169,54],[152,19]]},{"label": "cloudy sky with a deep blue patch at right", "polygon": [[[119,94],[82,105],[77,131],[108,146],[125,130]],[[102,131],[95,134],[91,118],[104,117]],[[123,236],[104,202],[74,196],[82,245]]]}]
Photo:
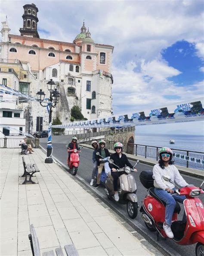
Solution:
[{"label": "cloudy sky with a deep blue patch at right", "polygon": [[[73,42],[85,19],[94,42],[114,46],[114,114],[191,102],[204,95],[203,0],[31,2],[39,9],[40,38]],[[0,19],[7,15],[12,34],[20,34],[22,6],[31,2],[1,2]],[[204,122],[166,127],[172,133],[202,134]],[[138,127],[145,132],[149,128]]]}]

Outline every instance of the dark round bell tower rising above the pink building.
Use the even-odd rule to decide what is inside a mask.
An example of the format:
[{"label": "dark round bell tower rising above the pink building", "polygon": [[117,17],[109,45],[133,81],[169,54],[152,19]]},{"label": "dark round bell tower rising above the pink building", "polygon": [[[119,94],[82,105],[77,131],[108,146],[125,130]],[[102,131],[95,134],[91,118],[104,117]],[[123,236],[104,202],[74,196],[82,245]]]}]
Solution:
[{"label": "dark round bell tower rising above the pink building", "polygon": [[24,8],[24,14],[22,16],[23,28],[19,29],[21,35],[40,38],[37,32],[38,8],[34,3],[25,4],[23,8]]}]

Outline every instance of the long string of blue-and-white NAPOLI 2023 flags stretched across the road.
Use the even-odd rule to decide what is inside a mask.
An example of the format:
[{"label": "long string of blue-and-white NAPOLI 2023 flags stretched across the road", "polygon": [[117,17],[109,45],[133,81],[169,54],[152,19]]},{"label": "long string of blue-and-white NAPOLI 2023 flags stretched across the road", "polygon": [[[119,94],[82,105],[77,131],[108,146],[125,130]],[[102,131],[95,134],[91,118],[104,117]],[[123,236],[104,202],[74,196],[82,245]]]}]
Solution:
[{"label": "long string of blue-and-white NAPOLI 2023 flags stretched across the road", "polygon": [[53,128],[97,128],[97,127],[127,127],[137,125],[160,125],[180,122],[204,121],[204,99],[194,99],[168,107],[151,109],[141,112],[130,112],[125,115],[109,116],[88,121],[71,122],[63,125],[53,125]]}]

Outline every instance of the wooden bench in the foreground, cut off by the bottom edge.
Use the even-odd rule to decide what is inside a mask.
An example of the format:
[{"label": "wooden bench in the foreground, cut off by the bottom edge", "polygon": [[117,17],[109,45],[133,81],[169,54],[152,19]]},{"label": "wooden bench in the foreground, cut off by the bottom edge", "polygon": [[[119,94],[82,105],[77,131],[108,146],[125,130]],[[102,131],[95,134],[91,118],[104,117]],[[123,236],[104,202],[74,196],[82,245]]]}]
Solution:
[{"label": "wooden bench in the foreground, cut off by the bottom edge", "polygon": [[[33,256],[40,256],[40,245],[33,224],[30,226],[30,232],[31,234],[28,235],[28,238],[30,240],[32,254]],[[51,250],[43,253],[43,256],[64,256],[62,247],[56,248],[55,251],[56,254]],[[79,256],[74,244],[65,245],[65,252],[67,256]]]}]

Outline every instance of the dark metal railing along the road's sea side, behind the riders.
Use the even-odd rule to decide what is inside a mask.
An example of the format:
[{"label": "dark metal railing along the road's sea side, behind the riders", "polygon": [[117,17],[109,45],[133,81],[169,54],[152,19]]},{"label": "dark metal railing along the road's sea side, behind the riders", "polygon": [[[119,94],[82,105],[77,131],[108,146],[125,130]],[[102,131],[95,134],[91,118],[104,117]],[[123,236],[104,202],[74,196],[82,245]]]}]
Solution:
[{"label": "dark metal railing along the road's sea side, behind the riders", "polygon": [[[82,138],[79,143],[91,144],[93,139],[90,138]],[[117,141],[107,141],[106,140],[106,148],[113,150],[114,143]],[[147,159],[158,159],[158,150],[161,147],[141,145],[141,144],[132,144],[127,142],[122,142],[124,145],[124,152],[127,154],[132,154],[135,156],[145,157]],[[191,151],[191,150],[181,150],[174,149],[173,150],[173,160],[174,163],[180,166],[185,166],[187,168],[194,168],[199,170],[204,170],[204,152]]]}]

